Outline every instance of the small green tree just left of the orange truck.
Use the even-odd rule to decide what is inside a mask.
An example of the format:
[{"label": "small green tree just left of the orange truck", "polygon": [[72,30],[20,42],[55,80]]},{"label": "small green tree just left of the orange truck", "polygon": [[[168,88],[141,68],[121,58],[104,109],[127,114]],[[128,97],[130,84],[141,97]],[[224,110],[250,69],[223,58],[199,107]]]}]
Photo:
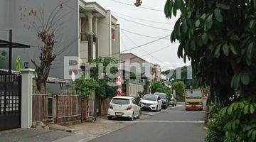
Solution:
[{"label": "small green tree just left of the orange truck", "polygon": [[183,93],[185,92],[186,84],[182,81],[174,82],[172,88],[176,91],[176,99],[178,102],[184,102]]}]

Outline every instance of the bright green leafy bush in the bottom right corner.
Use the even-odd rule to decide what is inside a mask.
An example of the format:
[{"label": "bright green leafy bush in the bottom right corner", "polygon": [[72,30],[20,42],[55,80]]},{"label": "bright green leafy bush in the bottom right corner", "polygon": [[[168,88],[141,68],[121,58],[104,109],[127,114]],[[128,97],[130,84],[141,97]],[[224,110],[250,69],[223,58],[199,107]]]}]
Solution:
[{"label": "bright green leafy bush in the bottom right corner", "polygon": [[256,103],[252,100],[235,102],[229,107],[224,107],[219,114],[230,118],[224,126],[225,141],[256,141],[256,119],[253,114]]}]

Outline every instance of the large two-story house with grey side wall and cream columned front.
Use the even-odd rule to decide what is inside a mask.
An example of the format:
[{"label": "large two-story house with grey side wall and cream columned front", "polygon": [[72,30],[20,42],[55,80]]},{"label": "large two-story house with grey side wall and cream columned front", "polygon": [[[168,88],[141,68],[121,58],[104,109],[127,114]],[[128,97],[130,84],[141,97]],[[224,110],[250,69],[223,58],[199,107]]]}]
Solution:
[{"label": "large two-story house with grey side wall and cream columned front", "polygon": [[[26,11],[32,11],[34,18],[28,18]],[[36,12],[35,12],[36,11]],[[56,12],[58,11],[58,13]],[[52,14],[52,13],[57,13]],[[30,13],[29,13],[30,14]],[[53,61],[50,77],[64,78],[64,57],[72,56],[82,59],[82,63],[97,57],[113,57],[119,60],[119,24],[110,10],[104,9],[97,2],[85,0],[1,0],[0,1],[0,39],[9,40],[8,31],[13,30],[14,42],[31,45],[30,49],[15,49],[13,53],[13,69],[16,58],[21,56],[22,62],[31,59],[40,62],[40,46],[37,31],[29,26],[29,22],[39,24],[53,18],[55,30],[55,47],[53,52],[57,58]],[[32,19],[32,21],[31,21]],[[43,21],[44,20],[44,21]],[[8,53],[8,50],[6,50]],[[0,68],[6,69],[8,60],[0,61]]]}]

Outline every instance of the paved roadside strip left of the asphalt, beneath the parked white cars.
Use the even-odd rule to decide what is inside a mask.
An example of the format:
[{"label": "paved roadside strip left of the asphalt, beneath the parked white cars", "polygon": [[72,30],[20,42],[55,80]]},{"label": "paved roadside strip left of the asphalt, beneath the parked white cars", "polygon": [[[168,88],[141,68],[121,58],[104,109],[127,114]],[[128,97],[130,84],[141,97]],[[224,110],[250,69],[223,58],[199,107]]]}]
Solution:
[{"label": "paved roadside strip left of the asphalt, beneath the parked white cars", "polygon": [[[141,119],[146,119],[156,112],[143,111]],[[17,129],[0,132],[0,142],[87,142],[94,138],[104,136],[112,131],[117,131],[131,124],[127,119],[107,120],[107,116],[97,117],[92,123],[76,124],[68,126],[73,133],[52,131],[49,129]]]}]

